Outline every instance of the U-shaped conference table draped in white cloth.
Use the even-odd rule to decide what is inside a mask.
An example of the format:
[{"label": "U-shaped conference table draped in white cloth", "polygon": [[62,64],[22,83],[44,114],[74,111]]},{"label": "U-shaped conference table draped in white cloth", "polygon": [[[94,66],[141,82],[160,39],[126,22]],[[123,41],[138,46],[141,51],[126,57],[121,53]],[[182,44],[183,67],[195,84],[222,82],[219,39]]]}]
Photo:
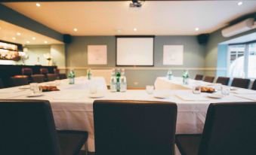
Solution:
[{"label": "U-shaped conference table draped in white cloth", "polygon": [[[160,82],[159,82],[160,81]],[[85,77],[76,78],[75,84],[61,80],[57,87],[60,91],[46,92],[43,96],[27,97],[31,94],[29,89],[11,87],[0,90],[0,99],[45,99],[50,101],[57,129],[74,129],[88,132],[88,150],[94,152],[94,118],[93,102],[90,87],[97,87],[97,92],[102,94],[97,99],[112,100],[146,100],[175,102],[177,104],[176,133],[202,133],[208,105],[215,102],[256,102],[256,91],[236,89],[231,90],[229,96],[222,99],[211,99],[208,93],[193,94],[191,87],[195,84],[211,85],[202,81],[190,80],[190,84],[183,85],[180,78],[168,81],[167,78],[157,78],[156,90],[148,94],[146,90],[127,90],[125,93],[111,93],[106,89],[106,82],[101,77],[88,80]],[[42,83],[53,85],[56,82]],[[174,85],[160,89],[161,85]],[[179,87],[177,87],[179,86]],[[182,87],[182,89],[180,89]],[[186,89],[185,89],[186,88]],[[218,93],[218,92],[217,92]]]}]

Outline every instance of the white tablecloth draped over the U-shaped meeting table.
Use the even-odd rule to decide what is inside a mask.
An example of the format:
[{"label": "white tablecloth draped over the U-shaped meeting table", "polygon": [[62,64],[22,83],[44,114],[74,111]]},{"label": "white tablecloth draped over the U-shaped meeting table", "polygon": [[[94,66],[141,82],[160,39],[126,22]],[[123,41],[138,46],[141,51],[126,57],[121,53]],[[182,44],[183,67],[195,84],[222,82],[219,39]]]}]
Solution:
[{"label": "white tablecloth draped over the U-shaped meeting table", "polygon": [[[250,99],[242,99],[237,94],[231,93],[223,99],[209,99],[208,94],[201,93],[200,99],[195,101],[185,101],[177,96],[193,95],[191,90],[156,90],[157,93],[168,93],[171,96],[168,99],[156,99],[154,95],[148,95],[145,90],[128,90],[126,93],[110,93],[106,90],[106,84],[103,87],[100,84],[101,78],[94,78],[98,81],[100,90],[104,91],[104,97],[100,99],[133,99],[166,101],[177,103],[177,133],[201,133],[208,105],[213,102],[248,102]],[[57,129],[77,129],[88,131],[88,150],[94,151],[94,120],[93,120],[93,102],[94,99],[88,97],[88,87],[90,81],[85,78],[76,78],[75,85],[67,84],[68,81],[61,81],[60,91],[44,93],[44,96],[33,99],[47,99],[51,102],[51,108],[54,114],[54,121]],[[103,81],[102,81],[103,82]],[[17,91],[11,99],[32,99],[26,97],[30,90],[19,91],[18,87],[2,89],[0,98],[10,99],[10,90]],[[2,92],[2,93],[1,93]],[[9,95],[7,95],[9,94]],[[20,94],[20,95],[19,95]]]}]

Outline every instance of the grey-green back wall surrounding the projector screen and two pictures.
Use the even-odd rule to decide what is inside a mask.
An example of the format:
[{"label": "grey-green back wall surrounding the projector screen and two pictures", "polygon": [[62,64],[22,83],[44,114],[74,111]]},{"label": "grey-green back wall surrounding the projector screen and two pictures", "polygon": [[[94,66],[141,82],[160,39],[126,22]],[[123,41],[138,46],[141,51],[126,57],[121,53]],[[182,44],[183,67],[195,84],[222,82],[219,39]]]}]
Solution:
[{"label": "grey-green back wall surrounding the projector screen and two pictures", "polygon": [[[88,44],[107,45],[107,65],[88,65]],[[164,44],[184,45],[184,65],[162,65],[162,51]],[[85,75],[87,68],[114,68],[116,67],[116,38],[114,36],[82,36],[72,37],[72,43],[66,45],[66,65],[73,68],[76,74]],[[174,75],[180,76],[184,69],[190,69],[190,77],[196,73],[204,74],[205,47],[199,45],[196,36],[156,36],[154,43],[154,67],[125,68],[128,78],[128,87],[145,87],[153,84],[158,76],[165,76],[168,68]]]}]

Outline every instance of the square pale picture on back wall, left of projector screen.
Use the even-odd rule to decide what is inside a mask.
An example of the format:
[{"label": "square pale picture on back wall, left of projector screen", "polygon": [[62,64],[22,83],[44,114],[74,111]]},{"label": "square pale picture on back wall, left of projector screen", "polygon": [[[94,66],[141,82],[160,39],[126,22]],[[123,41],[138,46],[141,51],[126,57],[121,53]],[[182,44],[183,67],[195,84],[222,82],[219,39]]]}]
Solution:
[{"label": "square pale picture on back wall, left of projector screen", "polygon": [[106,45],[88,45],[88,65],[106,65]]}]

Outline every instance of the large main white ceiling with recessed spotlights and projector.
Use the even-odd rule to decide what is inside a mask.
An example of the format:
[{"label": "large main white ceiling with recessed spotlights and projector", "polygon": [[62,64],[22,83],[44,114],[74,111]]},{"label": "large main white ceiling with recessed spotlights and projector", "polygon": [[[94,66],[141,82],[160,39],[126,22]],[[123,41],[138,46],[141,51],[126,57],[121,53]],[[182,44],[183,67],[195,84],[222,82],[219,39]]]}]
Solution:
[{"label": "large main white ceiling with recessed spotlights and projector", "polygon": [[[71,35],[198,35],[213,32],[231,20],[256,11],[256,1],[3,3],[9,8]],[[196,27],[199,31],[195,31]],[[78,31],[74,32],[73,29]],[[134,28],[137,31],[134,32]],[[121,32],[118,32],[121,30]]]}]

